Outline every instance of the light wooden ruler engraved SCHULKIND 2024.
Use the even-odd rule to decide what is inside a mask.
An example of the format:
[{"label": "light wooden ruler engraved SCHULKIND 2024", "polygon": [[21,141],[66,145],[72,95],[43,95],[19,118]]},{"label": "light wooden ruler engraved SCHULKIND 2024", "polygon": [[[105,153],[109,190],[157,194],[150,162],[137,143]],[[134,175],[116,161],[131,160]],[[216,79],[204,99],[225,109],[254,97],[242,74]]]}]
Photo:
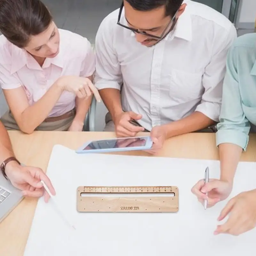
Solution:
[{"label": "light wooden ruler engraved SCHULKIND 2024", "polygon": [[78,187],[78,212],[178,212],[177,187]]}]

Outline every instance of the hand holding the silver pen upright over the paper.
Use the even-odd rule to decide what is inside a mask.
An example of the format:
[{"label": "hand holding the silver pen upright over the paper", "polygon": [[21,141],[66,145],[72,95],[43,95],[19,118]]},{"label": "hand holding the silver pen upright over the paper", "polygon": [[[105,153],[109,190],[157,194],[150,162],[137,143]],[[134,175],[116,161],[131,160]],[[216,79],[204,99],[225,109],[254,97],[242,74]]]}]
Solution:
[{"label": "hand holding the silver pen upright over the paper", "polygon": [[[204,184],[204,180],[199,180],[191,192],[197,196],[198,201],[202,204],[204,204],[204,199],[207,199],[207,207],[209,208],[228,198],[232,187],[233,184],[227,181],[210,179],[208,183]],[[205,195],[206,193],[208,196]]]}]

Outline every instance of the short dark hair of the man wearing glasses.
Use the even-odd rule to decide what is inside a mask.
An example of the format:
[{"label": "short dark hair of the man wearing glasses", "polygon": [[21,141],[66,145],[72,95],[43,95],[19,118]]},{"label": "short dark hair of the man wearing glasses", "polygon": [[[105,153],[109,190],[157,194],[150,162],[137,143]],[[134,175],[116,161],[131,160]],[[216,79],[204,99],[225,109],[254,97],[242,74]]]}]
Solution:
[{"label": "short dark hair of the man wearing glasses", "polygon": [[174,16],[183,0],[125,0],[137,11],[151,11],[165,6],[165,16]]}]

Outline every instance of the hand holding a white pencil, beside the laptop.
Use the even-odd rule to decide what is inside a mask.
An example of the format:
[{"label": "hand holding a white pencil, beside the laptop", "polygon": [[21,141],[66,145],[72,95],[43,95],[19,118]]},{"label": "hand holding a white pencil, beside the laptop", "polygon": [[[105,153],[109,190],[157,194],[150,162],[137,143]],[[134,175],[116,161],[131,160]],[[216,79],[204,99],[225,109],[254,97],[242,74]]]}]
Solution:
[{"label": "hand holding a white pencil, beside the laptop", "polygon": [[45,182],[52,195],[56,194],[50,179],[40,168],[21,166],[12,161],[6,165],[5,172],[12,185],[20,189],[24,196],[41,197],[44,195],[44,201],[47,203],[50,195],[44,191],[41,180]]}]

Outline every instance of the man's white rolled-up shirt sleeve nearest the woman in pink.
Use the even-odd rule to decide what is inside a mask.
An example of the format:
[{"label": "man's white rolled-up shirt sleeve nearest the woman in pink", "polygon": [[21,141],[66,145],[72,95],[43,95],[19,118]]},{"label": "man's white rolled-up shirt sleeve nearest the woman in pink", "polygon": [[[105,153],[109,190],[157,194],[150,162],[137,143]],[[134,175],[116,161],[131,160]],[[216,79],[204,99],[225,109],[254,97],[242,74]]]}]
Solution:
[{"label": "man's white rolled-up shirt sleeve nearest the woman in pink", "polygon": [[112,20],[105,18],[98,29],[95,39],[96,71],[94,82],[100,89],[114,88],[121,89],[123,81],[121,68],[114,50],[113,29],[115,26]]}]

